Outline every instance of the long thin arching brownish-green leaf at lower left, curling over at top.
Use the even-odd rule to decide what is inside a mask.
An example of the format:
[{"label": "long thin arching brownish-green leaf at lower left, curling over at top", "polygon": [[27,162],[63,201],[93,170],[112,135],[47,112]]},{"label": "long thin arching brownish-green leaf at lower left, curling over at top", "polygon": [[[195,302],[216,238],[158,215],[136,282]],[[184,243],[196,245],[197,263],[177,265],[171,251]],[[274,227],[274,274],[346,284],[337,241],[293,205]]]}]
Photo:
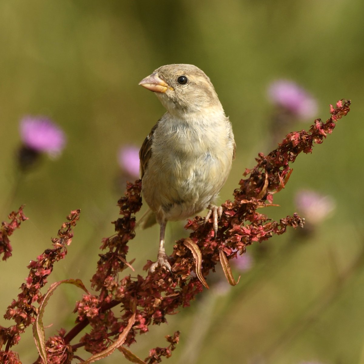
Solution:
[{"label": "long thin arching brownish-green leaf at lower left, curling over at top", "polygon": [[40,302],[40,305],[38,308],[38,314],[35,319],[35,323],[33,324],[33,338],[34,338],[35,346],[37,347],[39,356],[41,357],[41,359],[43,359],[45,364],[47,364],[48,361],[47,361],[47,349],[46,349],[46,335],[44,333],[44,325],[43,325],[43,321],[42,321],[44,309],[46,308],[48,300],[52,296],[55,289],[63,283],[73,284],[79,288],[82,288],[85,292],[88,293],[86,287],[84,286],[84,284],[82,283],[81,280],[67,279],[67,280],[53,283],[50,286],[50,288],[48,289],[47,293],[44,295],[43,300]]}]

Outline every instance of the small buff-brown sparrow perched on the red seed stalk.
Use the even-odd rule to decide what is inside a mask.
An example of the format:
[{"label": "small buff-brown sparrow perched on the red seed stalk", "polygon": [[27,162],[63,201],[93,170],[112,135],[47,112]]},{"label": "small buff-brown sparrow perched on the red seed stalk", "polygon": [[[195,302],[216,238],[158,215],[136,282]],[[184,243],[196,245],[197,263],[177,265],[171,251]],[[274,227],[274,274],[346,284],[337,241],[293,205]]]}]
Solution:
[{"label": "small buff-brown sparrow perched on the red seed stalk", "polygon": [[158,266],[171,270],[164,248],[168,220],[206,209],[217,232],[222,207],[211,205],[235,157],[232,126],[210,79],[192,64],[157,68],[140,85],[153,91],[167,112],[145,139],[140,157],[142,194],[161,226]]}]

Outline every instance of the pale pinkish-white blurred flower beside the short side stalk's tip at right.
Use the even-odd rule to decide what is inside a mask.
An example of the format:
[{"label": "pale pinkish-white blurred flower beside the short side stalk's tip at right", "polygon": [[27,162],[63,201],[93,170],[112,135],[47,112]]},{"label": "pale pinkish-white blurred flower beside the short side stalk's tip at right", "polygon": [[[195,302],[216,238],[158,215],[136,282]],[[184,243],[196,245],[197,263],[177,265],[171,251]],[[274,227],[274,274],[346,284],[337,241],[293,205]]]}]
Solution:
[{"label": "pale pinkish-white blurred flower beside the short side stalk's tip at right", "polygon": [[311,190],[299,191],[296,194],[295,202],[306,221],[313,224],[323,221],[336,205],[331,196],[321,195]]}]

